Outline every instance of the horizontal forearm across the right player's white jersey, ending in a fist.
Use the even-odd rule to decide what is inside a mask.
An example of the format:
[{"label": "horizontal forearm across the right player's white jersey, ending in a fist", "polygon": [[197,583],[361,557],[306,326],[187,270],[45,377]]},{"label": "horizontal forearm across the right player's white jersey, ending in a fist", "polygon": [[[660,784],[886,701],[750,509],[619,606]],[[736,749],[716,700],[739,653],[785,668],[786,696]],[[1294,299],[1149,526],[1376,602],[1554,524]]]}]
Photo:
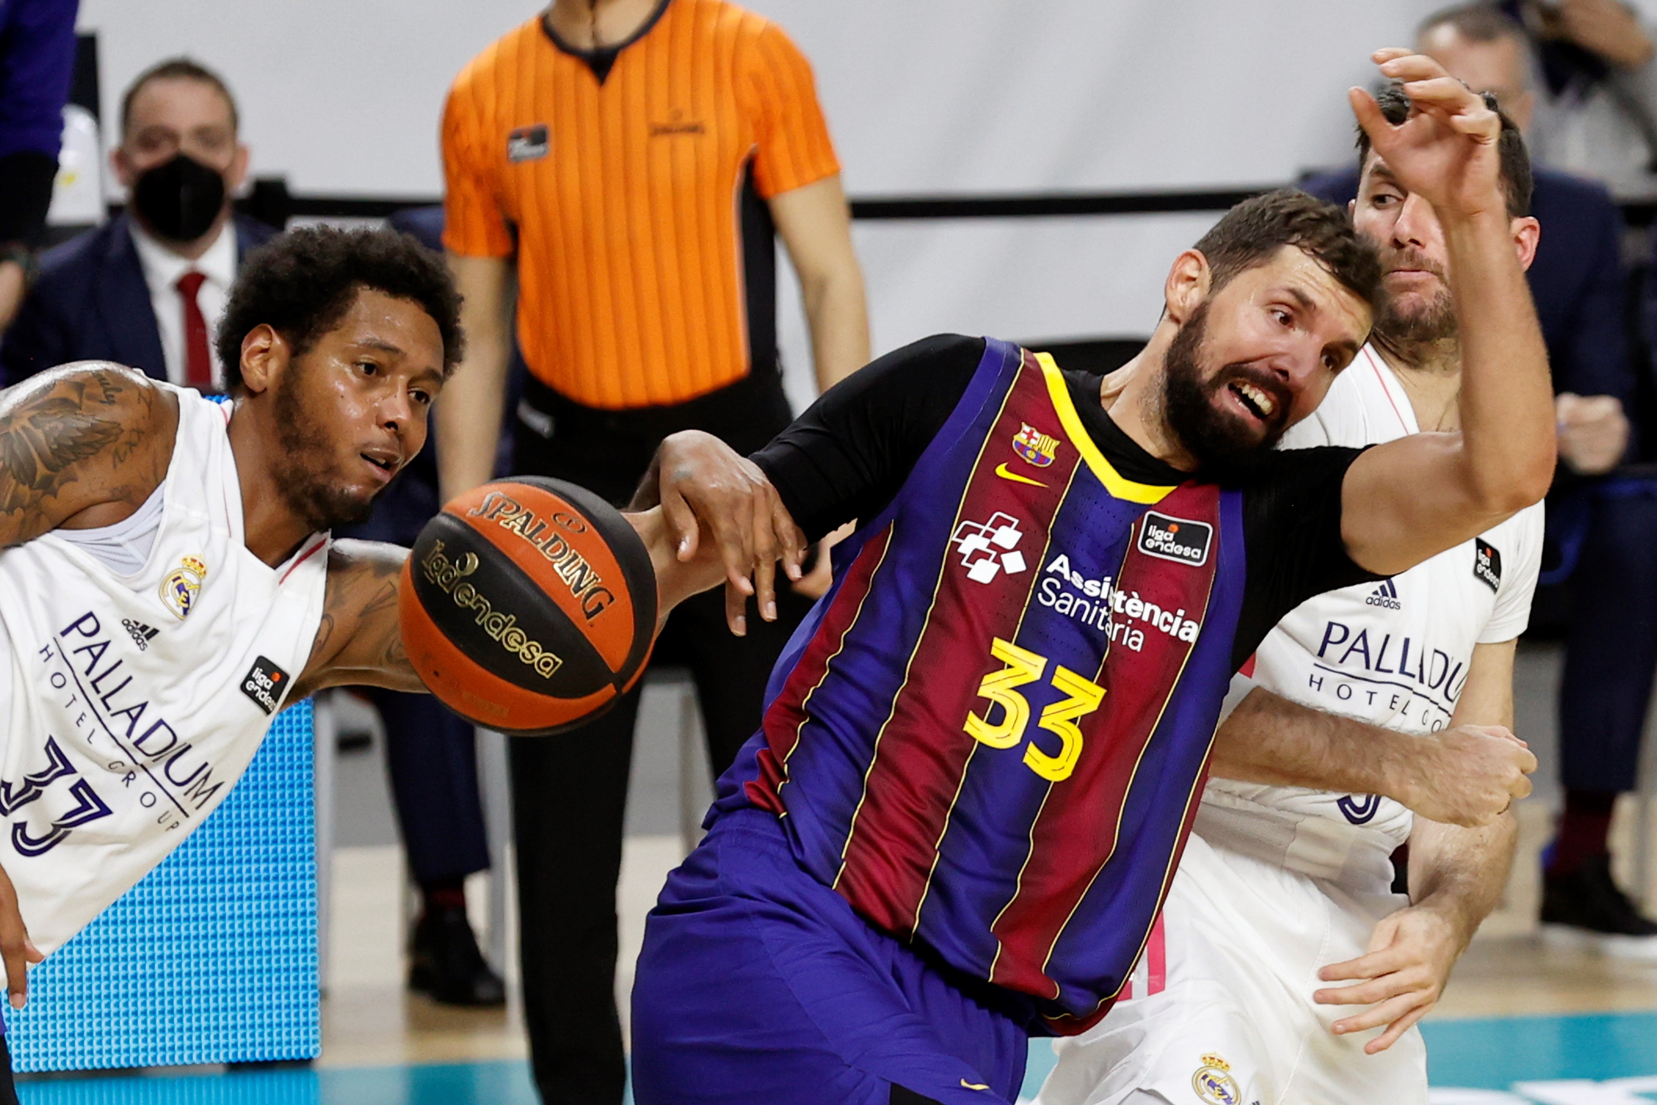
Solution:
[{"label": "horizontal forearm across the right player's white jersey, ending in a fist", "polygon": [[1420,742],[1254,688],[1215,734],[1211,774],[1274,787],[1380,794],[1408,803]]}]

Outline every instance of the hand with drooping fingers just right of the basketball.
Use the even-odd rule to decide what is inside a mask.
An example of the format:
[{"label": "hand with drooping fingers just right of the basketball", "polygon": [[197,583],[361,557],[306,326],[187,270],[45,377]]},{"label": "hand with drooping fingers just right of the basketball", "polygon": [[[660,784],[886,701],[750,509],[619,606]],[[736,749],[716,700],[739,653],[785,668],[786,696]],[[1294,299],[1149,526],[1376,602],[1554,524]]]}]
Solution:
[{"label": "hand with drooping fingers just right of the basketball", "polygon": [[[713,434],[683,431],[661,442],[630,510],[661,507],[681,563],[698,560],[704,540],[717,545],[726,578],[726,623],[747,633],[752,595],[759,616],[777,618],[775,568],[800,578],[805,535],[759,466]],[[704,533],[706,530],[706,533]]]}]

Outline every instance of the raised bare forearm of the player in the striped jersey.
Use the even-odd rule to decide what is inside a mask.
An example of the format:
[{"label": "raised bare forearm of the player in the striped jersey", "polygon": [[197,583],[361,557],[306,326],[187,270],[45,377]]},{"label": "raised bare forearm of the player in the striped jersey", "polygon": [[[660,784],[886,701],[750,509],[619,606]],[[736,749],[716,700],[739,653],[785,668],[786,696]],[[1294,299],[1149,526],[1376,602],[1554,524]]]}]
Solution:
[{"label": "raised bare forearm of the player in the striped jersey", "polygon": [[1553,480],[1548,350],[1505,210],[1443,219],[1461,341],[1461,452],[1471,505],[1505,515]]}]

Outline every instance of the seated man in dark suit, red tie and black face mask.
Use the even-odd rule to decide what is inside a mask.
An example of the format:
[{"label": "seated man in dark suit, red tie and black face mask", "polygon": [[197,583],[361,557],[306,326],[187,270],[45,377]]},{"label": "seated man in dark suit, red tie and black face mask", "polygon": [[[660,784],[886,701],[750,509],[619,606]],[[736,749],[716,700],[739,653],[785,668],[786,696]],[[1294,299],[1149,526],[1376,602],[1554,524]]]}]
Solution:
[{"label": "seated man in dark suit, red tie and black face mask", "polygon": [[247,176],[230,89],[187,58],[146,70],[121,99],[109,161],[128,210],[41,257],[40,280],[0,343],[5,383],[108,359],[214,391],[224,376],[212,330],[230,282],[275,234],[230,210]]}]

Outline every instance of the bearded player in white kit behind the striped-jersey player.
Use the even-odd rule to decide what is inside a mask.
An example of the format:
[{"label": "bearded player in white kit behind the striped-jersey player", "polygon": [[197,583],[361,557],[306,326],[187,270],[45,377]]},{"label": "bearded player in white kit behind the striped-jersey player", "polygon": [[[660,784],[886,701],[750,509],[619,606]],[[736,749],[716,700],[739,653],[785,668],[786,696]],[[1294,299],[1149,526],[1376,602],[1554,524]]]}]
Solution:
[{"label": "bearded player in white kit behind the striped-jersey player", "polygon": [[[1410,108],[1395,88],[1380,106],[1395,123]],[[1286,447],[1367,446],[1458,424],[1461,350],[1443,229],[1362,133],[1359,151],[1354,224],[1380,249],[1389,295],[1370,345]],[[1528,267],[1538,242],[1531,172],[1506,118],[1500,151],[1513,252]],[[1044,1105],[1427,1102],[1413,1025],[1501,896],[1511,813],[1481,828],[1412,825],[1390,797],[1234,779],[1281,779],[1271,759],[1286,727],[1334,731],[1339,764],[1452,724],[1511,726],[1514,638],[1541,537],[1536,504],[1380,585],[1321,595],[1271,631],[1231,681],[1228,701],[1241,706],[1216,741],[1221,777],[1203,794],[1145,966],[1099,1025],[1057,1044]],[[1385,794],[1407,797],[1407,779],[1390,782]],[[1390,893],[1389,855],[1405,840],[1410,898]]]}]

